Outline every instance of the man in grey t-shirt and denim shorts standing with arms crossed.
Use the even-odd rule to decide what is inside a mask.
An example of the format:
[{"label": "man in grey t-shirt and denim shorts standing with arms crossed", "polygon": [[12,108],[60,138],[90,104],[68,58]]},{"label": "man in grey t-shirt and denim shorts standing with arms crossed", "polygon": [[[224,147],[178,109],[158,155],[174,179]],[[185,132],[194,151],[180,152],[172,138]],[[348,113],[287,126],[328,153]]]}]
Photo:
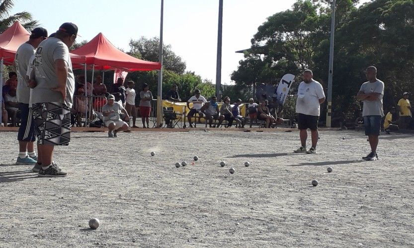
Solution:
[{"label": "man in grey t-shirt and denim shorts standing with arms crossed", "polygon": [[381,130],[381,118],[384,116],[382,108],[384,83],[377,79],[375,66],[366,68],[365,74],[368,81],[361,85],[356,97],[363,102],[362,116],[364,117],[365,135],[368,136],[371,152],[362,159],[375,161],[378,159],[378,136]]}]

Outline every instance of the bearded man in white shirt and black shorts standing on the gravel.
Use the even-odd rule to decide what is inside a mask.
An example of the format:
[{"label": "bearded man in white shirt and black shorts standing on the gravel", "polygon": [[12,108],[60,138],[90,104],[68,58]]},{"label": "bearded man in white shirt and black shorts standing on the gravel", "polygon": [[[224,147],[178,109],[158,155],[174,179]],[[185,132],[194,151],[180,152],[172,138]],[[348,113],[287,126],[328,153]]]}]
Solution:
[{"label": "bearded man in white shirt and black shorts standing on the gravel", "polygon": [[[298,87],[298,99],[296,100],[301,147],[294,150],[294,152],[316,153],[316,144],[319,137],[320,106],[323,102],[325,102],[325,93],[322,85],[313,79],[312,70],[305,70],[303,72],[303,82]],[[312,147],[307,151],[308,128],[311,129]]]}]

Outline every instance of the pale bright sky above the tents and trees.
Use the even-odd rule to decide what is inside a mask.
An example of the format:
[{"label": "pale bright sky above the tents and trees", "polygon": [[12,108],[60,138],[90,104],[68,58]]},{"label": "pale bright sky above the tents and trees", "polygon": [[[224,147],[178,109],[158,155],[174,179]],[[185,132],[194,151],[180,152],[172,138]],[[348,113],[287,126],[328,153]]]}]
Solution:
[{"label": "pale bright sky above the tents and trees", "polygon": [[[291,8],[296,0],[224,0],[222,84],[231,84],[250,40],[266,18]],[[28,11],[40,26],[55,32],[64,22],[79,27],[78,42],[99,32],[129,51],[129,41],[160,36],[161,0],[15,0],[11,14]],[[165,0],[164,43],[186,62],[186,70],[216,81],[219,0]]]}]

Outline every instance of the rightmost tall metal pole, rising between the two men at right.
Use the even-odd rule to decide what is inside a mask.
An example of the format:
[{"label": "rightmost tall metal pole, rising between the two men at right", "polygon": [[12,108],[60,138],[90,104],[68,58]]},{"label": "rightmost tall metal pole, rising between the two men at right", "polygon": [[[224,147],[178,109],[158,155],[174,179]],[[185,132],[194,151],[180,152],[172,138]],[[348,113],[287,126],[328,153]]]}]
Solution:
[{"label": "rightmost tall metal pole, rising between the two men at right", "polygon": [[335,37],[335,0],[332,0],[331,19],[331,47],[329,53],[329,75],[328,75],[328,105],[327,105],[327,127],[331,127],[332,117],[332,75],[333,75],[333,41]]}]

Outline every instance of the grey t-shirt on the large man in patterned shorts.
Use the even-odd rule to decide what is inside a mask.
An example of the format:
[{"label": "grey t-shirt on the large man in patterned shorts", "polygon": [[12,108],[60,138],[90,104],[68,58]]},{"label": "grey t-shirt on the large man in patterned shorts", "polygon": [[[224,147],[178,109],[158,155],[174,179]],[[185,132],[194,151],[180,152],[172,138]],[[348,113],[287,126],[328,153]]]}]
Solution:
[{"label": "grey t-shirt on the large man in patterned shorts", "polygon": [[[58,87],[55,61],[64,60],[68,66],[66,99],[52,88]],[[60,39],[52,37],[40,43],[33,62],[37,86],[33,89],[32,103],[60,102],[72,108],[75,91],[75,77],[72,71],[69,49]]]}]

